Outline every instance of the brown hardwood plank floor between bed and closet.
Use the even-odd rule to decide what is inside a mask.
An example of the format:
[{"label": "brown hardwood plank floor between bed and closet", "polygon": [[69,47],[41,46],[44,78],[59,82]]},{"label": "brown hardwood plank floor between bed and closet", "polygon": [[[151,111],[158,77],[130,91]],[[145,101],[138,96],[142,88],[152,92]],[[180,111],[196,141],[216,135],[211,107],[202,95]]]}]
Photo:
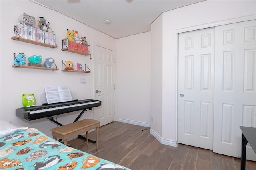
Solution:
[{"label": "brown hardwood plank floor between bed and closet", "polygon": [[[89,133],[96,140],[96,132]],[[126,166],[132,170],[240,170],[240,158],[216,154],[212,150],[158,142],[147,127],[113,122],[100,127],[99,149],[86,146],[83,139],[68,142],[74,148]],[[256,162],[246,160],[246,170],[256,170]]]}]

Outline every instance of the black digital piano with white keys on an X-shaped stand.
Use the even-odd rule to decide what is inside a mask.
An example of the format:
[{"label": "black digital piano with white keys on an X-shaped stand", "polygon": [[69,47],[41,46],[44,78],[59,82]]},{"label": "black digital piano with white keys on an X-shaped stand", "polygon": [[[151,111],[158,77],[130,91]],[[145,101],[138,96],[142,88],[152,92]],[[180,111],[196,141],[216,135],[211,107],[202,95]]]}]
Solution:
[{"label": "black digital piano with white keys on an X-shaped stand", "polygon": [[101,101],[93,99],[77,100],[70,102],[61,102],[55,104],[46,104],[34,107],[22,107],[16,109],[16,116],[26,119],[35,120],[44,117],[69,113],[72,111],[92,109],[101,106]]}]

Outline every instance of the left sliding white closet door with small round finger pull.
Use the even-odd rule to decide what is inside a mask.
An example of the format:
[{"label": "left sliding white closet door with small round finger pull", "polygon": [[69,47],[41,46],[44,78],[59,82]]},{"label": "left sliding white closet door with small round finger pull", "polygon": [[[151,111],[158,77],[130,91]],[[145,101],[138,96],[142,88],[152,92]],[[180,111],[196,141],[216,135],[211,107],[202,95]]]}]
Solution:
[{"label": "left sliding white closet door with small round finger pull", "polygon": [[214,28],[178,39],[178,143],[212,149]]}]

